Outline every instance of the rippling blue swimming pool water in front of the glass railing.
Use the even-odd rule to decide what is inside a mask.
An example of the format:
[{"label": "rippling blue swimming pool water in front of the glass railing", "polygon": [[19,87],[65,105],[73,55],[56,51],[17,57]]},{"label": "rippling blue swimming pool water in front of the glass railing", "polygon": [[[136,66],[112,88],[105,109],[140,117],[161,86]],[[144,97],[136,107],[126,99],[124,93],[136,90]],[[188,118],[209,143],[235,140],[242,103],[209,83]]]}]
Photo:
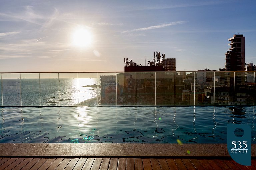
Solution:
[{"label": "rippling blue swimming pool water in front of the glass railing", "polygon": [[254,107],[4,107],[0,143],[227,143],[227,124]]}]

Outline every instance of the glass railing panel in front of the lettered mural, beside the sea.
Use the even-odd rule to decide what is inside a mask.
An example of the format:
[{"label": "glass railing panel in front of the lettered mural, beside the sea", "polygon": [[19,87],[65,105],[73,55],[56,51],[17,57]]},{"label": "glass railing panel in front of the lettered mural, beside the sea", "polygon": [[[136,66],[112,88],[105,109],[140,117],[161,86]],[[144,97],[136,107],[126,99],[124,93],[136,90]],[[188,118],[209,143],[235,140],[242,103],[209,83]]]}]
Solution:
[{"label": "glass railing panel in front of the lettered mural, beside the sea", "polygon": [[116,73],[97,73],[100,80],[100,102],[102,106],[117,105]]}]

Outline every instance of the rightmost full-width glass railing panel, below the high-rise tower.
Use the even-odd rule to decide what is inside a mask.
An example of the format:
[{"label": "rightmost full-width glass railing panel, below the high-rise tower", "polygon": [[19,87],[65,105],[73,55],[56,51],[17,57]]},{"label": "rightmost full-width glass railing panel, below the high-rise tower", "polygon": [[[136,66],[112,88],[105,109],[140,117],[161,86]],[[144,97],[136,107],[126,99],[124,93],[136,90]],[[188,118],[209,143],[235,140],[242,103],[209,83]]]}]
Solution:
[{"label": "rightmost full-width glass railing panel, below the high-rise tower", "polygon": [[254,72],[235,72],[235,104],[253,105]]}]

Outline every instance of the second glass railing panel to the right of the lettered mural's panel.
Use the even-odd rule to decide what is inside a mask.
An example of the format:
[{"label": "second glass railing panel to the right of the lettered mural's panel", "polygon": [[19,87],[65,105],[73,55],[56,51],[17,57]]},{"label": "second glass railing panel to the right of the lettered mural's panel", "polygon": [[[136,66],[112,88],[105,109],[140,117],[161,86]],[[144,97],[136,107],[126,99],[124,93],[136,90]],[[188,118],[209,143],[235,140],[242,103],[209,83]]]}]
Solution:
[{"label": "second glass railing panel to the right of the lettered mural's panel", "polygon": [[136,105],[155,105],[155,72],[136,73]]}]

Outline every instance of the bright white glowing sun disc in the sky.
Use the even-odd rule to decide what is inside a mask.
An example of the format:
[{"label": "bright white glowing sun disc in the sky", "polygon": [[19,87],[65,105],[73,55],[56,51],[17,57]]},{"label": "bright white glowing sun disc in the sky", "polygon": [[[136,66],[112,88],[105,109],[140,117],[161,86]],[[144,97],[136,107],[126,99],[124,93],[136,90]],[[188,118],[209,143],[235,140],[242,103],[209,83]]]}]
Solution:
[{"label": "bright white glowing sun disc in the sky", "polygon": [[76,29],[72,35],[72,44],[79,47],[88,47],[92,43],[92,33],[85,28]]}]

